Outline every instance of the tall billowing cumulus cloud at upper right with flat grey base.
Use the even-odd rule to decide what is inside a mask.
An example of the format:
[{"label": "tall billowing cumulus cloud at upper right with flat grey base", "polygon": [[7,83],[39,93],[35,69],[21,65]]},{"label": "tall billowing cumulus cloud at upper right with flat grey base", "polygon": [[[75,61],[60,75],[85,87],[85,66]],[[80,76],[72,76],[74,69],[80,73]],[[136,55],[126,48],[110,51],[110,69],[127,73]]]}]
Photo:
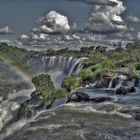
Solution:
[{"label": "tall billowing cumulus cloud at upper right with flat grey base", "polygon": [[96,5],[89,18],[88,28],[95,32],[118,32],[127,30],[121,14],[126,10],[120,0],[108,0],[115,5]]}]

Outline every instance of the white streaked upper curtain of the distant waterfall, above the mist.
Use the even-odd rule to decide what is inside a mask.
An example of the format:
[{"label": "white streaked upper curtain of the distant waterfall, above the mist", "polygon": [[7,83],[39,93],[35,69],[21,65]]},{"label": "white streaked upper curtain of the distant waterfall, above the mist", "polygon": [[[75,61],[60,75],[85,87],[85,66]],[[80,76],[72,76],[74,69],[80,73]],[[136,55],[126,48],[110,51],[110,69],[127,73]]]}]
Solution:
[{"label": "white streaked upper curtain of the distant waterfall, above the mist", "polygon": [[[86,58],[74,58],[74,57],[64,57],[64,56],[51,56],[43,57],[42,64],[45,63],[45,71],[49,70],[61,70],[67,76],[72,74],[77,74],[82,68],[82,62]],[[41,65],[40,63],[40,65]]]}]

